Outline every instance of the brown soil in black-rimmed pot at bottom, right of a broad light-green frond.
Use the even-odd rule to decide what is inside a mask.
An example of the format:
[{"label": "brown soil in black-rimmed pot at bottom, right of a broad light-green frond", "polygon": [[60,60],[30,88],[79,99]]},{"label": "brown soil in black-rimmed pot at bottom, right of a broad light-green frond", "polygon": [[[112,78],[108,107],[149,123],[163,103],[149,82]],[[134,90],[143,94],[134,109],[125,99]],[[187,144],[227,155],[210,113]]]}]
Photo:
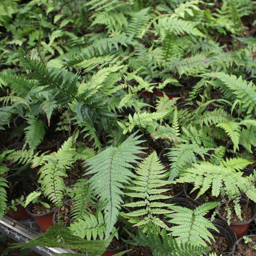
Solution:
[{"label": "brown soil in black-rimmed pot at bottom, right of a broad light-green frond", "polygon": [[[216,253],[217,255],[227,255],[224,254],[226,252],[229,252],[230,248],[228,246],[228,243],[226,241],[226,239],[221,236],[218,233],[212,233],[215,242],[210,238],[211,243],[209,243],[208,241],[205,241],[207,243],[208,246],[211,246],[211,253]],[[207,253],[207,255],[210,254],[210,252]]]}]

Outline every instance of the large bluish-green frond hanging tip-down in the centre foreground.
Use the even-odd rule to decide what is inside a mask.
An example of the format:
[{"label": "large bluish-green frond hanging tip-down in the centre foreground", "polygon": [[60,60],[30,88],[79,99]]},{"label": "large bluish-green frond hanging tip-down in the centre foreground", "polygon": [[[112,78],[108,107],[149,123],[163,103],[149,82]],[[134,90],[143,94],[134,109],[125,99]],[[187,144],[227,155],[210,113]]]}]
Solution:
[{"label": "large bluish-green frond hanging tip-down in the centre foreground", "polygon": [[123,184],[129,184],[134,174],[128,169],[133,168],[129,162],[137,162],[140,157],[134,155],[142,153],[143,147],[137,146],[140,136],[133,133],[119,147],[108,147],[85,163],[89,167],[87,174],[94,174],[89,184],[95,195],[104,202],[104,221],[106,223],[106,238],[116,222],[118,209],[123,203]]}]

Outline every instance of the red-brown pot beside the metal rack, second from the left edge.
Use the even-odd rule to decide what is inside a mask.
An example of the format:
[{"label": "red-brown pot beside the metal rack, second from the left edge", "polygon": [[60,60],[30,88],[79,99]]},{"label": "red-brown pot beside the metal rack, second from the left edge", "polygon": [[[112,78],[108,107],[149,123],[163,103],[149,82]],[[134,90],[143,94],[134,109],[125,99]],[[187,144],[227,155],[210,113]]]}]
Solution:
[{"label": "red-brown pot beside the metal rack, second from the left edge", "polygon": [[53,224],[53,215],[54,212],[56,212],[58,210],[58,208],[55,208],[47,213],[43,213],[43,214],[34,214],[32,213],[32,203],[30,203],[28,205],[28,207],[26,207],[26,212],[33,217],[33,219],[37,222],[38,226],[44,231],[46,232],[46,230],[51,227],[54,226]]}]

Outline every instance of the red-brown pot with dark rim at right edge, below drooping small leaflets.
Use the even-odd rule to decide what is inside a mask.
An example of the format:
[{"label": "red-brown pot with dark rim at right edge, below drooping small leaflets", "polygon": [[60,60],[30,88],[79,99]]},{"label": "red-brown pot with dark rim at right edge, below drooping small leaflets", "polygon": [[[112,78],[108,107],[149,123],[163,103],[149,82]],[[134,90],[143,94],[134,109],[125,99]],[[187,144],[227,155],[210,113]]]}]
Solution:
[{"label": "red-brown pot with dark rim at right edge, below drooping small leaflets", "polygon": [[[247,202],[247,197],[245,195],[242,195],[242,197],[240,199],[240,203],[246,204],[246,202]],[[231,222],[230,223],[230,227],[234,230],[238,239],[243,236],[246,236],[249,226],[250,226],[250,223],[256,217],[256,203],[254,203],[252,200],[249,200],[248,206],[250,206],[253,209],[253,216],[251,219],[249,219],[246,222]],[[218,211],[217,211],[217,215],[218,215],[219,219],[221,219],[224,222],[227,222],[227,218],[223,217]]]}]

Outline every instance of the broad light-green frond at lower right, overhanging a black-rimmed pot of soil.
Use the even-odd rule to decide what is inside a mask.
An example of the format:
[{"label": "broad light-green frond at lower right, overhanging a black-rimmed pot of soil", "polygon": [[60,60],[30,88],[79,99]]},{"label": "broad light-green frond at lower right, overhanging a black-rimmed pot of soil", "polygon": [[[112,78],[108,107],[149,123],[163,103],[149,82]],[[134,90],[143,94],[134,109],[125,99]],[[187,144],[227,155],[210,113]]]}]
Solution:
[{"label": "broad light-green frond at lower right, overhanging a black-rimmed pot of soil", "polygon": [[170,228],[172,236],[177,237],[177,243],[191,243],[194,245],[207,246],[204,240],[210,242],[209,238],[213,238],[207,228],[218,231],[209,219],[204,215],[218,205],[216,202],[204,203],[199,205],[195,210],[172,205],[170,209],[174,213],[167,214],[165,217],[171,218],[169,221],[173,224],[178,224]]}]

